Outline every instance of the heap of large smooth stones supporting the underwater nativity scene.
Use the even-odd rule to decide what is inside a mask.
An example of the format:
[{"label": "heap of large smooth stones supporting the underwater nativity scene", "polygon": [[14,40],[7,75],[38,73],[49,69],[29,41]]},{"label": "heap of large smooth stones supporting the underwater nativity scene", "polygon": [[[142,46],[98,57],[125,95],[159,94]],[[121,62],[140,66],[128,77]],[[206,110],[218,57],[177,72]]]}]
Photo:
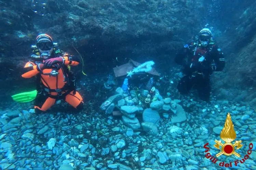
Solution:
[{"label": "heap of large smooth stones supporting the underwater nativity scene", "polygon": [[[160,115],[166,119],[171,116],[172,123],[180,123],[186,121],[186,112],[178,103],[179,100],[171,100],[170,97],[152,101],[149,108],[142,105],[144,101],[139,100],[139,96],[147,96],[148,91],[144,90],[142,94],[137,94],[135,90],[124,93],[122,88],[116,89],[116,94],[109,97],[100,109],[105,114],[110,115],[114,110],[119,110],[123,124],[132,128],[139,129],[141,126],[150,135],[158,135],[158,126]],[[143,122],[139,122],[136,118],[137,114],[142,114]]]}]

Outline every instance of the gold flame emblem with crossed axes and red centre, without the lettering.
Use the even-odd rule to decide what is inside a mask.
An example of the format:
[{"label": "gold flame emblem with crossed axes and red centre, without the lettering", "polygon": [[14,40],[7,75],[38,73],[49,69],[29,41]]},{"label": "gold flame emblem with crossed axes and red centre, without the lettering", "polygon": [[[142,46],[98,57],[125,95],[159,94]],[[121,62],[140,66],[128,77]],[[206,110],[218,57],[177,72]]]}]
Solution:
[{"label": "gold flame emblem with crossed axes and red centre, without the lettering", "polygon": [[[237,147],[237,149],[240,149],[243,146],[241,144],[242,141],[239,140],[239,141],[235,141],[234,144],[231,143],[233,140],[235,140],[236,137],[237,135],[235,134],[234,125],[233,125],[233,122],[231,121],[231,116],[228,113],[227,119],[224,124],[224,128],[221,130],[221,133],[220,133],[220,138],[224,140],[225,143],[222,144],[220,140],[215,140],[216,144],[214,145],[214,147],[221,150],[221,152],[216,154],[216,157],[222,154],[226,156],[230,156],[234,154],[235,156],[240,157],[241,155],[235,152],[235,147]],[[221,146],[221,149],[219,148],[219,146]]]}]

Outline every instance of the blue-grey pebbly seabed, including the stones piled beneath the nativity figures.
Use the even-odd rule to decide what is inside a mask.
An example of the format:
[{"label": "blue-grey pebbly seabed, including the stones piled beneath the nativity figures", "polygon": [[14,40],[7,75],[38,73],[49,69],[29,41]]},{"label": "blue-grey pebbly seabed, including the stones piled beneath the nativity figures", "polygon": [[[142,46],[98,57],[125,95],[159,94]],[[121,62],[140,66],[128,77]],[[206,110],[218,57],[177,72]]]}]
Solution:
[{"label": "blue-grey pebbly seabed, including the stones piled beneath the nativity figures", "polygon": [[[170,96],[141,106],[136,94],[119,88],[100,106],[105,113],[46,113],[12,108],[0,112],[0,168],[18,170],[159,170],[229,169],[220,167],[240,160],[220,156],[216,164],[205,157],[219,150],[227,113],[241,158],[253,144],[249,158],[232,169],[256,169],[256,119],[254,109],[228,101],[211,104],[179,101]],[[20,106],[19,106],[20,107]],[[121,115],[112,115],[118,109]],[[186,110],[186,111],[185,111]],[[231,169],[231,168],[230,168]]]}]

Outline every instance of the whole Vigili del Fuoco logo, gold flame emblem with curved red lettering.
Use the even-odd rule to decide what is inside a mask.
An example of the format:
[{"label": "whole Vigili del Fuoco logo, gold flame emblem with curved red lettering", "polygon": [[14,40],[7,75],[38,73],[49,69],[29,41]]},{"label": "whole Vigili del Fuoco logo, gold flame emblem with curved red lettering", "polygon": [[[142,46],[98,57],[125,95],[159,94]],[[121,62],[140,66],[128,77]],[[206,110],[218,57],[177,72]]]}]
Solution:
[{"label": "whole Vigili del Fuoco logo, gold flame emblem with curved red lettering", "polygon": [[[243,144],[242,144],[241,140],[239,140],[239,141],[236,140],[233,144],[232,142],[233,142],[233,140],[235,140],[236,137],[237,137],[237,135],[235,134],[234,125],[233,125],[233,122],[231,121],[231,116],[228,113],[227,119],[224,124],[224,128],[221,130],[221,133],[220,133],[220,138],[225,143],[222,143],[220,140],[215,140],[216,144],[214,145],[214,147],[217,148],[218,150],[220,150],[220,152],[217,153],[215,156],[216,157],[219,157],[220,155],[230,156],[230,155],[234,154],[235,156],[240,157],[241,155],[239,153],[237,153],[236,150],[239,150],[243,146]],[[206,153],[205,157],[207,159],[210,159],[214,164],[216,164],[218,159],[215,156],[212,156],[211,153],[209,153],[210,148],[207,147],[208,144],[209,143],[206,143],[204,145],[204,149],[205,149],[204,152]],[[221,146],[221,148],[220,148],[220,146]],[[235,160],[233,163],[232,162],[225,163],[223,161],[223,162],[219,163],[219,166],[232,167],[233,165],[238,166],[239,163],[243,164],[245,162],[245,160],[249,158],[249,155],[252,153],[252,149],[253,149],[253,143],[250,143],[247,154],[242,159]]]}]

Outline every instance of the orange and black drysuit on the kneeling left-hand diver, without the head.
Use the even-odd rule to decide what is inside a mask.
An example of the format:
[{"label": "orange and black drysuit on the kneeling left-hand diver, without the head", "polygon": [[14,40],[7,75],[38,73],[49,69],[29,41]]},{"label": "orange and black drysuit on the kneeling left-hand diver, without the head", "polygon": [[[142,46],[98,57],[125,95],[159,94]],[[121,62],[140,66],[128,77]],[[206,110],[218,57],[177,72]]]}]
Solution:
[{"label": "orange and black drysuit on the kneeling left-hand diver, without the head", "polygon": [[[54,50],[53,57],[60,56],[59,50]],[[29,61],[26,63],[25,68],[28,70],[22,74],[23,78],[31,78],[37,75],[37,81],[40,83],[40,88],[37,87],[38,94],[35,99],[35,110],[46,111],[54,105],[56,99],[64,99],[74,108],[81,110],[83,108],[83,99],[75,89],[75,77],[68,69],[68,65],[78,65],[79,60],[75,57],[69,57],[67,53],[63,58],[63,64],[60,68],[39,69],[40,62]],[[42,61],[43,62],[43,61]],[[58,72],[56,75],[50,73],[55,70]],[[41,90],[41,91],[40,91]]]}]

